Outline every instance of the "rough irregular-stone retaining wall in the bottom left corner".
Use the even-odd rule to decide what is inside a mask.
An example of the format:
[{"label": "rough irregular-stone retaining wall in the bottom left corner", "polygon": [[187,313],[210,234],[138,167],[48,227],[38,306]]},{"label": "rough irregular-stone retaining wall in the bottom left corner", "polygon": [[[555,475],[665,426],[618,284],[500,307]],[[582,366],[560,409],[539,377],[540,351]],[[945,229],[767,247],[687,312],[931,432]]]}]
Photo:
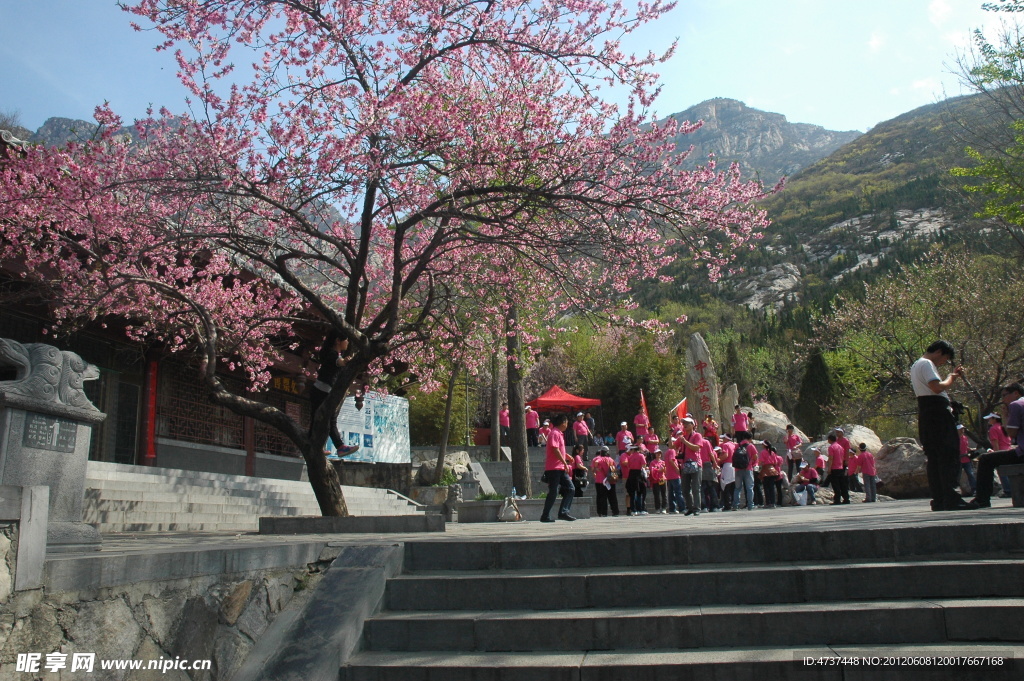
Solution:
[{"label": "rough irregular-stone retaining wall in the bottom left corner", "polygon": [[[71,653],[96,653],[90,679],[206,681],[227,679],[284,607],[311,589],[337,551],[303,568],[274,568],[189,580],[141,582],[90,591],[6,592],[13,584],[10,528],[0,529],[0,679],[78,678]],[[59,675],[41,668],[16,673],[18,653],[60,652],[69,666]],[[98,669],[99,659],[209,659],[209,671],[190,676],[171,670]]]}]

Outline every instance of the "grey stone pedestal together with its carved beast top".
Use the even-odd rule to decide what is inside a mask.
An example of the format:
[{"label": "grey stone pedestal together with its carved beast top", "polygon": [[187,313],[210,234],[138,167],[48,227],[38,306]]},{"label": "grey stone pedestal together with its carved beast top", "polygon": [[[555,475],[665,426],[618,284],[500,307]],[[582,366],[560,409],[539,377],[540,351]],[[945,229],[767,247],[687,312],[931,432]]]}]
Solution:
[{"label": "grey stone pedestal together with its carved beast top", "polygon": [[106,415],[82,386],[99,370],[74,352],[0,338],[0,484],[49,487],[48,551],[99,548],[99,533],[82,522],[92,428]]}]

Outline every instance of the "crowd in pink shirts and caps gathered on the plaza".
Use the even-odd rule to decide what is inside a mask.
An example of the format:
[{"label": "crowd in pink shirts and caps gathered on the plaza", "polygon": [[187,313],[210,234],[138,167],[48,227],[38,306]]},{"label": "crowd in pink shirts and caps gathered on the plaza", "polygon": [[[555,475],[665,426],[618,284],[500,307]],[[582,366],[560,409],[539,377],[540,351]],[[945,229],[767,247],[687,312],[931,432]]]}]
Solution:
[{"label": "crowd in pink shirts and caps gathered on the plaza", "polygon": [[[633,428],[626,421],[620,430],[595,437],[588,415],[577,414],[571,426],[567,416],[555,417],[540,429],[546,446],[545,481],[548,486],[542,522],[553,522],[551,511],[562,496],[558,518],[574,520],[572,499],[583,496],[593,480],[599,516],[621,515],[617,488],[625,487],[628,516],[648,515],[648,497],[654,513],[698,515],[703,512],[735,511],[740,508],[775,508],[783,505],[788,487],[797,505],[813,505],[815,494],[830,484],[834,504],[849,504],[850,491],[863,492],[864,502],[877,501],[874,457],[864,443],[854,446],[842,428],[828,434],[822,452],[811,448],[787,425],[779,448],[755,438],[752,413],[738,406],[728,433],[707,416],[695,420],[674,416],[663,443],[641,411]],[[575,444],[566,451],[565,434]],[[596,456],[589,458],[591,442]],[[863,478],[861,483],[860,478]]]}]

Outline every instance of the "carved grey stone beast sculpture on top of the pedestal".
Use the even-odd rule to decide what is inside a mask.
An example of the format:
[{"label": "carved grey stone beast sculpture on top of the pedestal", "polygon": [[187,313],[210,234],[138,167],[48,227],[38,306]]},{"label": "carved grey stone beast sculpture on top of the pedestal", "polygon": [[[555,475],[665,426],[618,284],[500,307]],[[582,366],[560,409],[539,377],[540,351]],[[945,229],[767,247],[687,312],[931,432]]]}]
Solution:
[{"label": "carved grey stone beast sculpture on top of the pedestal", "polygon": [[86,381],[99,378],[99,369],[74,352],[44,343],[18,343],[0,338],[0,367],[13,367],[11,381],[0,381],[0,392],[83,410],[96,407],[85,396]]}]

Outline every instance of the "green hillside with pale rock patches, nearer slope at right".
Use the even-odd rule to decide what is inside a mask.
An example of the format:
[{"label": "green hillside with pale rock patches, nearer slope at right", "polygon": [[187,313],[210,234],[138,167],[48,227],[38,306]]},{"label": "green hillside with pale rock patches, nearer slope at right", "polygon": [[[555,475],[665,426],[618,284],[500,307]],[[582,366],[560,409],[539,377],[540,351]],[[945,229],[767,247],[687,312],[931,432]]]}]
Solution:
[{"label": "green hillside with pale rock patches, nearer slope at right", "polygon": [[[969,96],[922,107],[788,178],[764,202],[772,220],[765,239],[739,255],[742,271],[713,295],[752,309],[823,301],[918,257],[936,240],[977,238],[959,190],[964,180],[949,169],[971,165],[963,124],[991,120],[988,105]],[[687,290],[694,286],[695,279],[686,282]]]}]

